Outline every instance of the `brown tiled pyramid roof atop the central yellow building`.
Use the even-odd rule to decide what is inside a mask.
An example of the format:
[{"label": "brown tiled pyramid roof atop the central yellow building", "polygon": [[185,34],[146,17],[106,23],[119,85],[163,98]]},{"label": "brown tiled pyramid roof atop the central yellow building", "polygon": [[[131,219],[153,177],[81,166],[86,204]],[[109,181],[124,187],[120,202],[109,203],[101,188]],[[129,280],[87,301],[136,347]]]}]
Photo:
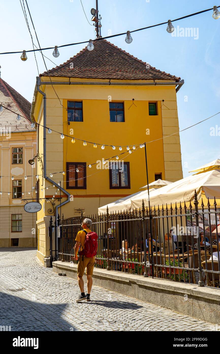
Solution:
[{"label": "brown tiled pyramid roof atop the central yellow building", "polygon": [[[72,65],[70,65],[72,63]],[[72,66],[72,67],[71,67]],[[93,51],[85,47],[67,62],[48,70],[50,76],[121,80],[176,80],[180,78],[150,66],[105,39],[94,41]],[[40,76],[48,76],[44,72]]]}]

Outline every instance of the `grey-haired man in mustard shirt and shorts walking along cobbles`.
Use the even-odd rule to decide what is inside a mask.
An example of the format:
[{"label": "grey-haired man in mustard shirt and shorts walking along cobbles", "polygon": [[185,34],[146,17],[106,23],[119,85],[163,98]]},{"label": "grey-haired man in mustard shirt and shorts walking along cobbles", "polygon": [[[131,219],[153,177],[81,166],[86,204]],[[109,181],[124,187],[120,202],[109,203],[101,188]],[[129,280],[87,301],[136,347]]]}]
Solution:
[{"label": "grey-haired man in mustard shirt and shorts walking along cobbles", "polygon": [[[75,260],[78,259],[77,253],[79,250],[79,245],[81,245],[80,251],[85,251],[84,249],[86,247],[84,247],[84,245],[85,245],[85,240],[86,240],[87,234],[89,234],[89,233],[91,233],[89,235],[95,234],[95,233],[91,232],[92,223],[93,222],[88,218],[84,219],[82,222],[81,227],[83,228],[83,230],[79,231],[76,236],[76,244],[74,247],[74,250],[75,250],[75,258],[74,259]],[[93,241],[95,241],[94,236],[93,236]],[[97,244],[97,239],[96,239],[96,244]],[[95,242],[94,242],[94,247],[96,247],[96,250],[97,250],[97,246],[95,245]],[[96,250],[94,253],[96,253]],[[79,302],[82,300],[90,301],[90,291],[91,291],[91,288],[93,285],[92,275],[93,275],[94,264],[95,264],[95,256],[92,256],[92,257],[87,257],[84,255],[79,256],[78,267],[77,267],[77,278],[78,278],[78,284],[79,284],[79,288],[81,291],[81,295],[76,300],[76,302]],[[85,274],[87,276],[87,294],[86,295],[84,292],[84,282],[83,282],[83,273],[84,273],[85,268],[86,268]]]}]

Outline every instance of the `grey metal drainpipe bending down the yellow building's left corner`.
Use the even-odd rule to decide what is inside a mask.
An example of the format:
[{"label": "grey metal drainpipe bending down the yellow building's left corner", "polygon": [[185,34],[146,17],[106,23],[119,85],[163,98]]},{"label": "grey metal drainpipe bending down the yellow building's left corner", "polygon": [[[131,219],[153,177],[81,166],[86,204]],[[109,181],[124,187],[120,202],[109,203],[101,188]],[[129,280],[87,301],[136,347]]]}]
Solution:
[{"label": "grey metal drainpipe bending down the yellow building's left corner", "polygon": [[[47,177],[47,160],[46,160],[46,93],[41,91],[39,89],[39,86],[41,85],[41,80],[37,76],[36,77],[36,92],[41,93],[43,96],[43,177],[50,183],[54,184],[57,188],[59,188],[63,193],[67,195],[67,200],[65,200],[63,203],[61,203],[59,206],[55,207],[55,240],[56,240],[56,245],[58,247],[58,233],[57,233],[57,218],[58,218],[58,208],[69,203],[70,202],[70,193],[68,193],[64,188],[59,186],[57,182],[53,181],[49,177]],[[34,103],[35,104],[35,103]],[[55,250],[55,259],[58,259],[58,249]]]}]

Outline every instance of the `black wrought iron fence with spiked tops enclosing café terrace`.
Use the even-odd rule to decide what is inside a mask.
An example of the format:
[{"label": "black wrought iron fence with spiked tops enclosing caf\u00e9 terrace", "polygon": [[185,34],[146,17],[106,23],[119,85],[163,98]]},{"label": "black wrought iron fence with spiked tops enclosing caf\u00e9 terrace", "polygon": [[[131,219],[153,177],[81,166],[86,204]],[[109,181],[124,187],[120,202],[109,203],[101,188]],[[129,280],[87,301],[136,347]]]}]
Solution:
[{"label": "black wrought iron fence with spiked tops enclosing caf\u00e9 terrace", "polygon": [[[220,211],[215,199],[198,208],[196,193],[192,204],[148,210],[143,201],[142,209],[86,216],[99,236],[95,267],[220,287]],[[84,218],[58,219],[59,260],[77,263],[75,238]]]}]

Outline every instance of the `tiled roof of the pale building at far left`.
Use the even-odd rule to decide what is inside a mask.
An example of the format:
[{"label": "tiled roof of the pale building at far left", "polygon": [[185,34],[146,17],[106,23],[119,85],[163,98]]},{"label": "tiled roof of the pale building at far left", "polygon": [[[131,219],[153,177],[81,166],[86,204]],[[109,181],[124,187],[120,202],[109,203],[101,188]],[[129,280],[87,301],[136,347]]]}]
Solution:
[{"label": "tiled roof of the pale building at far left", "polygon": [[[0,104],[3,111],[0,112],[0,129],[8,129],[11,131],[23,131],[35,129],[31,128],[30,110],[31,103],[28,102],[20,93],[14,90],[10,85],[0,78]],[[4,108],[7,107],[8,109]],[[11,110],[13,112],[11,112]],[[17,120],[17,114],[21,119]]]}]

